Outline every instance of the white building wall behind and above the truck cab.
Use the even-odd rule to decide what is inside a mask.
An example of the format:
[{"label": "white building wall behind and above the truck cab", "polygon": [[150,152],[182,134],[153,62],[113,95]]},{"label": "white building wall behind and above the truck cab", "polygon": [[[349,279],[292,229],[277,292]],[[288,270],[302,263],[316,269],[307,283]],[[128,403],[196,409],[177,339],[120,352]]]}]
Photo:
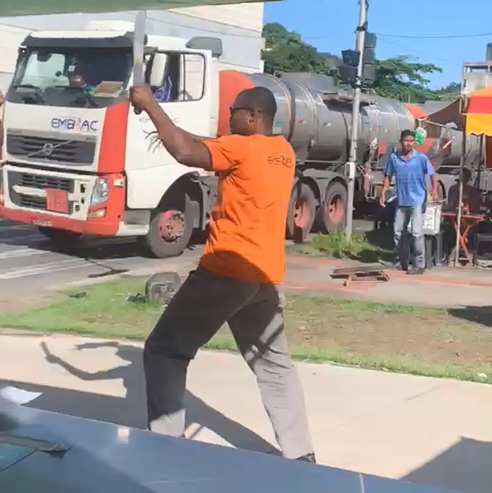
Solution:
[{"label": "white building wall behind and above the truck cab", "polygon": [[[2,1],[2,0],[0,0]],[[220,37],[221,62],[230,69],[263,71],[261,37],[263,3],[207,5],[172,10],[148,10],[147,32],[191,38]],[[31,30],[82,29],[89,20],[129,20],[136,12],[0,17],[0,90],[5,91],[15,68],[17,47]]]}]

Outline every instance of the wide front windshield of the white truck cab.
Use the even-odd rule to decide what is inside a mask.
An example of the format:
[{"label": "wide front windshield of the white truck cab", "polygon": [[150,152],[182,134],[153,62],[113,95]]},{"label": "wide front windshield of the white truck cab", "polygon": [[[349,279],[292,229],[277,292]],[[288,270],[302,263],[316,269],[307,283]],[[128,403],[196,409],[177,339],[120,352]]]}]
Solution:
[{"label": "wide front windshield of the white truck cab", "polygon": [[24,48],[7,100],[24,104],[103,107],[124,97],[129,48]]}]

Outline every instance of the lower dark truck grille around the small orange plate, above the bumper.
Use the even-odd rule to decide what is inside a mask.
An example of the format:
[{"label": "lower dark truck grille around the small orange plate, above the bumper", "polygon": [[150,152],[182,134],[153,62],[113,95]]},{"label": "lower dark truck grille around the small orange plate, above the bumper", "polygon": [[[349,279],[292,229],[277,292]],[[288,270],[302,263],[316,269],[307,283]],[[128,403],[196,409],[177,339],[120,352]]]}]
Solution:
[{"label": "lower dark truck grille around the small orange plate, above the bumper", "polygon": [[[65,190],[69,193],[73,192],[73,180],[69,178],[41,176],[38,174],[9,171],[7,179],[10,200],[19,207],[46,210],[46,199],[44,197],[37,197],[31,194],[18,193],[13,189],[15,185],[37,188],[39,190],[44,190],[45,188],[56,188],[58,190]],[[72,204],[70,203],[69,205],[71,213]]]}]

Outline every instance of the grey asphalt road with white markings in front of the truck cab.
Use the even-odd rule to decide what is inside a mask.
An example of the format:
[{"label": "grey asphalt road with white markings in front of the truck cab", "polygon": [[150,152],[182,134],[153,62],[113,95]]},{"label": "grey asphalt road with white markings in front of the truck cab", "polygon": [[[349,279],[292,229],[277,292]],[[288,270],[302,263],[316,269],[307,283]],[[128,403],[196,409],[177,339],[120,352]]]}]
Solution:
[{"label": "grey asphalt road with white markings in front of the truck cab", "polygon": [[0,301],[38,294],[91,279],[112,269],[175,270],[192,265],[201,246],[177,258],[145,258],[134,238],[82,238],[75,247],[56,249],[36,227],[0,219]]}]

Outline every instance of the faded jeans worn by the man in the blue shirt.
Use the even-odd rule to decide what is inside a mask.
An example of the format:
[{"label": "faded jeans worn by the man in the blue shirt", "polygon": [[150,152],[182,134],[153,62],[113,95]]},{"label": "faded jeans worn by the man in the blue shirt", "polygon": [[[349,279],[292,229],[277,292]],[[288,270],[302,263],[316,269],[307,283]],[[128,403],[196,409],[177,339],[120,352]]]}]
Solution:
[{"label": "faded jeans worn by the man in the blue shirt", "polygon": [[[401,262],[401,234],[411,220],[411,236],[413,240],[413,266],[425,268],[425,237],[423,235],[423,206],[396,207],[393,224],[394,261]],[[406,259],[405,259],[406,260]]]}]

